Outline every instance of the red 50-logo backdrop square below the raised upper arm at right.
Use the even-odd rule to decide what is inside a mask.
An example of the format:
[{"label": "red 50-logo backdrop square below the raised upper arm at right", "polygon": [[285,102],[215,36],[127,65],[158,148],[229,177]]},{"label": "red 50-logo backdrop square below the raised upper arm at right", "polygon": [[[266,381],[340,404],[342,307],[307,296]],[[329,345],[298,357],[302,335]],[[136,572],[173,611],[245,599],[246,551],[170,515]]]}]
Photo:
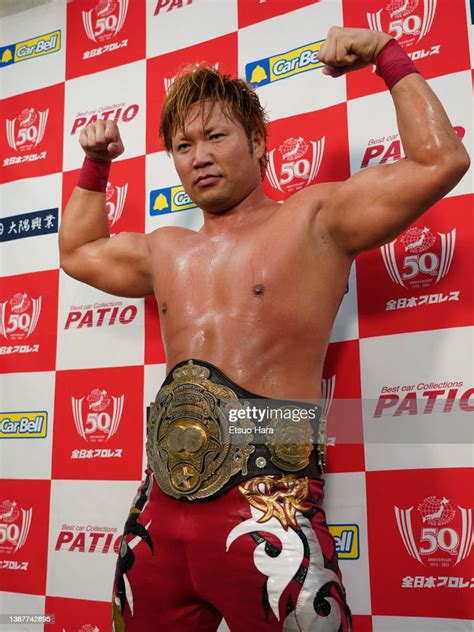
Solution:
[{"label": "red 50-logo backdrop square below the raised upper arm at right", "polygon": [[395,240],[357,257],[361,338],[472,324],[472,200],[445,198]]}]

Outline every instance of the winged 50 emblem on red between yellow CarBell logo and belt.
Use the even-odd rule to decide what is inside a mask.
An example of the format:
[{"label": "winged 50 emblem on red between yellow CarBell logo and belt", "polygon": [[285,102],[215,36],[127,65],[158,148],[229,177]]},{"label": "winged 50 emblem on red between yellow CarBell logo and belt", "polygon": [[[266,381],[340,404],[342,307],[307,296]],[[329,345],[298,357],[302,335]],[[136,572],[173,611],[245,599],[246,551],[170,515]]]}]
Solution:
[{"label": "winged 50 emblem on red between yellow CarBell logo and belt", "polygon": [[124,400],[124,395],[110,397],[105,389],[98,388],[93,389],[87,397],[72,397],[72,414],[78,434],[85,441],[108,441],[118,430]]}]

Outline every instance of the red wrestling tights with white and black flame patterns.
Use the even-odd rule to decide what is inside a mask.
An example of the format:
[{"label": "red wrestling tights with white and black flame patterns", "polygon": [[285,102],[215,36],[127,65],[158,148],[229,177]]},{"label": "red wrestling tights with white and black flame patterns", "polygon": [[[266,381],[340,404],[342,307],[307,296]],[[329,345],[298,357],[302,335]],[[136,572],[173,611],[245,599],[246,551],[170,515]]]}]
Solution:
[{"label": "red wrestling tights with white and black flame patterns", "polygon": [[146,473],[117,561],[115,632],[350,632],[323,481],[258,477],[183,502]]}]

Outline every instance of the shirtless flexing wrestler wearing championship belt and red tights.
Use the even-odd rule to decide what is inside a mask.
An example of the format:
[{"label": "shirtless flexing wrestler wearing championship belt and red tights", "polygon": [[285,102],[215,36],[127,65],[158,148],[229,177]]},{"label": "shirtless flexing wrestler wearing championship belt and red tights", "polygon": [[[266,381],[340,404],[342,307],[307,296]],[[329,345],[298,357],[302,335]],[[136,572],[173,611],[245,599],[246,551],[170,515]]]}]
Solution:
[{"label": "shirtless flexing wrestler wearing championship belt and red tights", "polygon": [[110,238],[104,190],[124,148],[111,121],[81,133],[86,160],[61,224],[61,267],[111,294],[153,294],[168,371],[117,562],[116,632],[206,632],[223,618],[232,632],[351,630],[321,507],[320,409],[309,425],[302,414],[267,421],[265,440],[239,421],[240,443],[224,411],[251,400],[309,414],[302,400],[321,395],[354,257],[442,198],[469,158],[387,35],[332,28],[319,57],[333,77],[377,63],[406,159],[278,204],[262,190],[265,117],[255,92],[196,67],[173,84],[161,134],[202,228]]}]

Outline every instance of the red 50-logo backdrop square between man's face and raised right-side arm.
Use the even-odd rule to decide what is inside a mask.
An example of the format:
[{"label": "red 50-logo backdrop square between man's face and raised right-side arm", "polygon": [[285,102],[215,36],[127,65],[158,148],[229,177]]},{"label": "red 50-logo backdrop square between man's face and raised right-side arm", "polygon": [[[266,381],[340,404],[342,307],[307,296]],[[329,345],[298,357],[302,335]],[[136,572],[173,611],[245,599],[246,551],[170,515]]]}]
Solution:
[{"label": "red 50-logo backdrop square between man's face and raised right-side arm", "polygon": [[274,200],[350,176],[346,104],[273,121],[268,126],[268,167],[263,183]]}]

